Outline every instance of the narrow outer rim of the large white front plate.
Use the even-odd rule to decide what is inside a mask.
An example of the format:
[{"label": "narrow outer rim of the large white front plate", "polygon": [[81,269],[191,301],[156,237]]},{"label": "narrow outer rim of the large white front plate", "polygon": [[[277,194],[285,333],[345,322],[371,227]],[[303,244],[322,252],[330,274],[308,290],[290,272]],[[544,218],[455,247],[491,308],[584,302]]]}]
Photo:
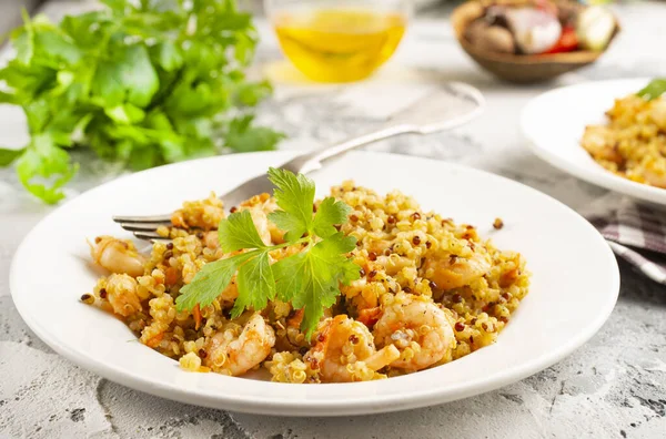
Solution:
[{"label": "narrow outer rim of the large white front plate", "polygon": [[[245,153],[243,155],[261,154],[261,155],[284,156],[284,157],[289,159],[290,156],[295,155],[299,152],[300,151],[290,150],[290,151],[275,151],[275,152]],[[391,153],[382,153],[382,152],[369,152],[369,151],[359,152],[359,151],[356,151],[356,152],[352,152],[351,154],[354,154],[354,155],[356,155],[356,154],[390,155],[390,156],[397,156],[401,159],[410,159],[410,160],[415,160],[415,161],[440,162],[440,161],[426,159],[426,157],[406,156],[404,154],[391,154]],[[192,162],[208,161],[208,160],[224,160],[224,157],[225,156],[213,156],[213,157],[198,159],[194,161],[188,161],[188,162],[181,162],[181,163],[159,166],[155,169],[142,171],[140,173],[124,175],[120,178],[132,177],[134,175],[142,174],[142,173],[151,173],[151,172],[154,172],[155,170],[160,170],[163,167],[186,166],[188,164],[191,164]],[[369,414],[407,410],[407,409],[426,407],[426,406],[432,406],[434,404],[443,404],[443,402],[448,402],[448,401],[453,401],[453,400],[457,400],[457,399],[462,399],[462,398],[466,398],[466,397],[471,397],[471,396],[475,396],[475,395],[485,394],[487,391],[492,391],[497,388],[504,387],[508,384],[516,382],[516,381],[524,379],[531,375],[534,375],[535,372],[537,372],[539,370],[546,369],[547,367],[549,367],[549,366],[554,365],[555,363],[569,356],[574,350],[576,350],[578,347],[581,347],[585,343],[587,343],[599,330],[599,328],[605,324],[605,321],[608,319],[610,313],[615,308],[617,297],[619,295],[619,285],[620,285],[619,269],[617,266],[617,261],[616,261],[610,247],[604,241],[602,235],[594,228],[594,226],[592,226],[592,224],[589,224],[584,217],[582,217],[576,211],[574,211],[566,204],[559,202],[558,200],[556,200],[547,194],[542,193],[541,191],[537,191],[534,187],[531,187],[521,182],[504,177],[502,175],[493,174],[487,171],[474,169],[474,167],[457,164],[457,163],[451,163],[451,162],[444,162],[444,161],[442,161],[440,163],[443,166],[448,166],[450,169],[463,170],[464,172],[472,172],[472,173],[490,176],[491,178],[498,178],[498,180],[504,181],[505,183],[519,186],[524,190],[527,190],[533,193],[537,193],[538,195],[548,198],[549,202],[556,203],[559,205],[559,207],[563,207],[564,210],[572,213],[574,215],[574,217],[576,217],[576,221],[581,222],[583,226],[588,227],[588,229],[595,235],[595,239],[597,239],[599,242],[599,244],[604,244],[607,247],[607,252],[605,254],[606,254],[607,263],[609,264],[609,267],[612,268],[612,273],[609,273],[609,275],[612,276],[610,282],[609,282],[612,292],[609,292],[608,298],[604,303],[603,310],[599,312],[596,315],[596,318],[594,320],[592,320],[585,327],[585,331],[579,333],[578,335],[576,335],[576,337],[569,338],[567,340],[567,343],[563,344],[563,346],[558,350],[544,354],[544,355],[537,357],[536,359],[532,359],[531,361],[525,363],[522,366],[506,368],[504,370],[501,370],[493,375],[484,376],[476,380],[462,381],[460,384],[456,384],[455,386],[446,386],[443,388],[433,387],[430,389],[425,389],[423,391],[411,392],[408,395],[397,394],[397,395],[391,395],[391,396],[383,395],[380,397],[377,397],[375,395],[369,395],[369,396],[362,396],[362,397],[360,397],[359,395],[354,395],[353,399],[351,399],[351,398],[345,398],[345,399],[341,398],[340,400],[323,400],[323,399],[312,400],[311,399],[311,400],[306,400],[306,401],[304,400],[304,401],[296,401],[296,402],[280,401],[280,404],[278,404],[278,401],[274,398],[266,399],[264,397],[259,397],[259,396],[249,396],[246,398],[239,399],[238,395],[232,395],[231,397],[229,397],[224,394],[220,394],[216,391],[202,391],[201,389],[192,390],[192,389],[186,389],[186,388],[180,388],[180,387],[174,386],[173,382],[148,381],[148,380],[143,379],[142,377],[134,376],[131,371],[129,371],[127,369],[115,368],[113,366],[104,365],[100,360],[94,360],[92,358],[88,358],[87,356],[82,356],[82,355],[78,354],[75,349],[72,349],[71,347],[67,346],[67,344],[60,341],[58,339],[58,337],[51,337],[49,335],[49,333],[46,330],[46,328],[43,328],[39,321],[34,321],[31,318],[30,314],[28,313],[28,309],[23,308],[23,300],[21,299],[21,293],[19,293],[21,288],[18,285],[19,263],[24,257],[23,253],[26,252],[26,247],[27,247],[27,244],[29,243],[29,238],[36,233],[36,231],[39,231],[39,228],[42,227],[43,224],[46,224],[52,215],[54,215],[57,212],[62,210],[70,202],[78,200],[82,195],[94,193],[95,191],[98,191],[102,187],[105,187],[107,185],[113,185],[120,178],[111,180],[99,186],[90,188],[89,191],[83,192],[81,195],[75,196],[72,200],[60,205],[58,208],[56,208],[53,212],[49,213],[38,224],[36,224],[33,226],[33,228],[21,241],[21,244],[17,248],[17,251],[13,255],[12,262],[11,262],[10,273],[9,273],[11,297],[14,302],[17,310],[19,312],[19,315],[21,316],[23,321],[26,321],[28,327],[32,331],[34,331],[34,334],[42,341],[44,341],[50,348],[52,348],[59,355],[63,356],[64,358],[67,358],[68,360],[72,361],[72,363],[74,363],[75,365],[78,365],[87,370],[91,370],[94,374],[97,374],[105,379],[109,379],[113,382],[118,382],[120,385],[131,387],[135,390],[144,391],[144,392],[148,392],[148,394],[151,394],[154,396],[163,397],[163,398],[180,401],[180,402],[193,404],[193,405],[198,405],[198,406],[204,406],[204,407],[211,407],[211,408],[218,408],[218,409],[225,409],[225,410],[238,411],[238,412],[260,414],[260,415],[278,415],[278,416],[286,416],[286,417],[303,416],[302,412],[299,412],[302,409],[309,409],[310,416],[344,416],[344,415],[355,416],[355,415],[369,415]],[[90,195],[87,195],[87,196],[90,196]],[[246,378],[238,378],[238,377],[225,377],[225,378],[246,379]],[[392,378],[392,379],[400,379],[400,377]],[[370,381],[370,382],[373,382],[373,381]],[[290,384],[281,384],[281,382],[266,382],[266,384],[271,385],[271,386],[292,386]],[[367,382],[323,384],[323,385],[319,385],[319,386],[354,386],[354,388],[356,388],[356,386],[364,386],[364,385],[367,385]]]}]

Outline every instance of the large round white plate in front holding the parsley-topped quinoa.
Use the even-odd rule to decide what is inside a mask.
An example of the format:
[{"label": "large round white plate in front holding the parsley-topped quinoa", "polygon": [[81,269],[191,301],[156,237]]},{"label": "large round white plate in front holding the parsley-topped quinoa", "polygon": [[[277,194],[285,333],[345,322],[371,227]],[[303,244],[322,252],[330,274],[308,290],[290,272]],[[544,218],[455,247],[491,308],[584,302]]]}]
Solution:
[{"label": "large round white plate in front holding the parsley-topped quinoa", "polygon": [[[122,234],[112,214],[154,214],[223,192],[292,152],[239,154],[141,172],[97,187],[53,212],[26,237],[11,292],[26,323],[56,351],[122,385],[183,402],[286,416],[361,415],[485,392],[542,370],[606,320],[619,288],[608,245],[578,214],[513,181],[404,155],[350,153],[313,175],[319,195],[345,178],[380,193],[400,188],[425,208],[475,224],[501,248],[522,252],[532,288],[490,347],[451,364],[380,381],[290,385],[183,371],[135,341],[118,319],[79,302],[98,273],[85,238]],[[506,226],[494,232],[502,217]]]}]

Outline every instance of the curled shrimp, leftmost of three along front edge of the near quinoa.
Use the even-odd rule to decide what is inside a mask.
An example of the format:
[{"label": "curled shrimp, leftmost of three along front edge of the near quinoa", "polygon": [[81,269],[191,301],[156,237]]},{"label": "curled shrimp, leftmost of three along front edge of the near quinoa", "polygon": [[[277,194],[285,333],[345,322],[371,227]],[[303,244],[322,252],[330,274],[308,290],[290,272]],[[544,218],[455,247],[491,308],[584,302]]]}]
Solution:
[{"label": "curled shrimp, leftmost of three along front edge of the near quinoa", "polygon": [[205,365],[234,377],[259,366],[275,345],[275,331],[259,313],[248,320],[240,335],[233,330],[215,334],[206,345]]}]

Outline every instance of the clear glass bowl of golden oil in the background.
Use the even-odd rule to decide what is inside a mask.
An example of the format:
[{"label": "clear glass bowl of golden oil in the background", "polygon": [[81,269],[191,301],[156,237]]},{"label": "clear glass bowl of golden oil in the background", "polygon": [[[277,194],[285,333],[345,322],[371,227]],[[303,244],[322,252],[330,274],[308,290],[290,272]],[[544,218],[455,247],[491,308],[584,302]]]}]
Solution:
[{"label": "clear glass bowl of golden oil in the background", "polygon": [[393,55],[410,0],[264,0],[284,55],[307,78],[351,82]]}]

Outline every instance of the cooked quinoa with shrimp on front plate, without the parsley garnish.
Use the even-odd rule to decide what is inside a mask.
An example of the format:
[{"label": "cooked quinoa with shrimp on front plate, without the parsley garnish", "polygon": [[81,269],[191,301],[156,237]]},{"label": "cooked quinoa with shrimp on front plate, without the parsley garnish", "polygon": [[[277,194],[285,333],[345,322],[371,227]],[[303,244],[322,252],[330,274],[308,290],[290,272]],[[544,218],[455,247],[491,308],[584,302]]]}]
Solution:
[{"label": "cooked quinoa with shrimp on front plate, without the parsley garnish", "polygon": [[[263,368],[281,382],[393,377],[496,340],[528,290],[521,254],[495,248],[474,226],[424,212],[400,192],[380,196],[344,182],[331,194],[352,207],[341,231],[357,239],[350,256],[361,278],[341,287],[311,339],[300,329],[302,310],[287,303],[231,319],[233,280],[212,305],[176,312],[181,287],[206,263],[230,256],[219,248],[216,226],[225,214],[214,194],[184,203],[172,225],[159,229],[171,241],[154,243],[149,255],[129,241],[98,237],[93,259],[111,274],[81,300],[115,314],[142,344],[185,370]],[[266,217],[275,208],[268,194],[238,206],[250,211],[262,238],[279,244],[282,233]],[[296,252],[284,247],[271,258]]]}]

